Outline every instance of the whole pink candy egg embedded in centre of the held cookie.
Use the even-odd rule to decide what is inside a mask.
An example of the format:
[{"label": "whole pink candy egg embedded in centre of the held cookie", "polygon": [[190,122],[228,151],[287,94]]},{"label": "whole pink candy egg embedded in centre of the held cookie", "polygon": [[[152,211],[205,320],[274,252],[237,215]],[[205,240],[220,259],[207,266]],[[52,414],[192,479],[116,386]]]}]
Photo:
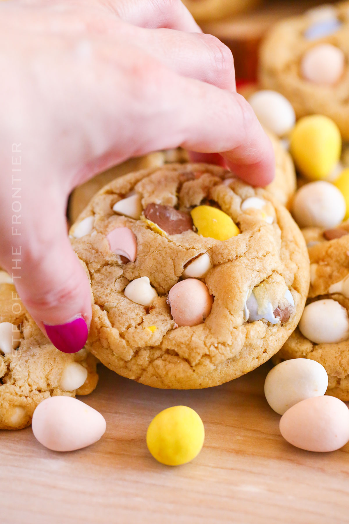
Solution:
[{"label": "whole pink candy egg embedded in centre of the held cookie", "polygon": [[171,314],[178,326],[201,324],[211,312],[213,297],[207,286],[196,278],[177,282],[170,293]]}]

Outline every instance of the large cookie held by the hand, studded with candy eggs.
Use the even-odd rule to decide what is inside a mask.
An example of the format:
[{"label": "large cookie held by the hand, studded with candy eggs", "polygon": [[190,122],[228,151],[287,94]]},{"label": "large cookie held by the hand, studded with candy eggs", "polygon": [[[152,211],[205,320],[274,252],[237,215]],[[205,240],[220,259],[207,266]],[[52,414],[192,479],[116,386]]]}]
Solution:
[{"label": "large cookie held by the hand, studded with candy eggs", "polygon": [[216,386],[263,364],[308,293],[307,249],[288,211],[217,166],[118,178],[70,236],[91,278],[86,347],[153,387]]}]

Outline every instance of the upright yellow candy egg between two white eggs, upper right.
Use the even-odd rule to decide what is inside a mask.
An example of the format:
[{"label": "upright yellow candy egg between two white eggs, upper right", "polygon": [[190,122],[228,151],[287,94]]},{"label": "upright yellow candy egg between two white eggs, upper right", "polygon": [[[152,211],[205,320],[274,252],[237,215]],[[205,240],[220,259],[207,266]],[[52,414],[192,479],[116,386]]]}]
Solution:
[{"label": "upright yellow candy egg between two white eggs, upper right", "polygon": [[303,176],[326,179],[341,156],[340,130],[327,116],[300,118],[290,135],[290,151]]}]

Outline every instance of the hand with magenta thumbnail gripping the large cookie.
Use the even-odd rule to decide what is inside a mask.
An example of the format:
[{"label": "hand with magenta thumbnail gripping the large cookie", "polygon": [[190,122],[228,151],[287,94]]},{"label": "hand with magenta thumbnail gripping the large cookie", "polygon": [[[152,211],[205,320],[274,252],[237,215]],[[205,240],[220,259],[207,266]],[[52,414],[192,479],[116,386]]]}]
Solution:
[{"label": "hand with magenta thumbnail gripping the large cookie", "polygon": [[12,0],[0,9],[0,264],[51,341],[75,352],[91,296],[66,234],[71,190],[179,145],[219,152],[239,177],[265,185],[273,150],[235,92],[231,52],[179,0]]}]

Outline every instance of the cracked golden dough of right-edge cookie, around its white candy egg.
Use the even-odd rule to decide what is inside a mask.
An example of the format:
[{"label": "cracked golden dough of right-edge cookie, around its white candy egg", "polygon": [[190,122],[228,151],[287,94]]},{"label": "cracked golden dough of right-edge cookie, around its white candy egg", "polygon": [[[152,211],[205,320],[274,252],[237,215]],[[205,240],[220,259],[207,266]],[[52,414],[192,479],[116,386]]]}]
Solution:
[{"label": "cracked golden dough of right-edge cookie, around its white candy egg", "polygon": [[[345,282],[349,275],[349,225],[344,223],[331,231],[335,230],[342,231],[343,235],[327,239],[320,228],[306,230],[308,238],[310,233],[311,238],[316,238],[309,247],[311,284],[308,303],[330,299],[348,312],[349,288]],[[344,314],[347,316],[347,313]],[[304,336],[298,327],[273,357],[273,362],[289,358],[311,358],[319,362],[329,376],[327,394],[349,401],[349,340],[345,338],[335,343],[315,343]]]}]

